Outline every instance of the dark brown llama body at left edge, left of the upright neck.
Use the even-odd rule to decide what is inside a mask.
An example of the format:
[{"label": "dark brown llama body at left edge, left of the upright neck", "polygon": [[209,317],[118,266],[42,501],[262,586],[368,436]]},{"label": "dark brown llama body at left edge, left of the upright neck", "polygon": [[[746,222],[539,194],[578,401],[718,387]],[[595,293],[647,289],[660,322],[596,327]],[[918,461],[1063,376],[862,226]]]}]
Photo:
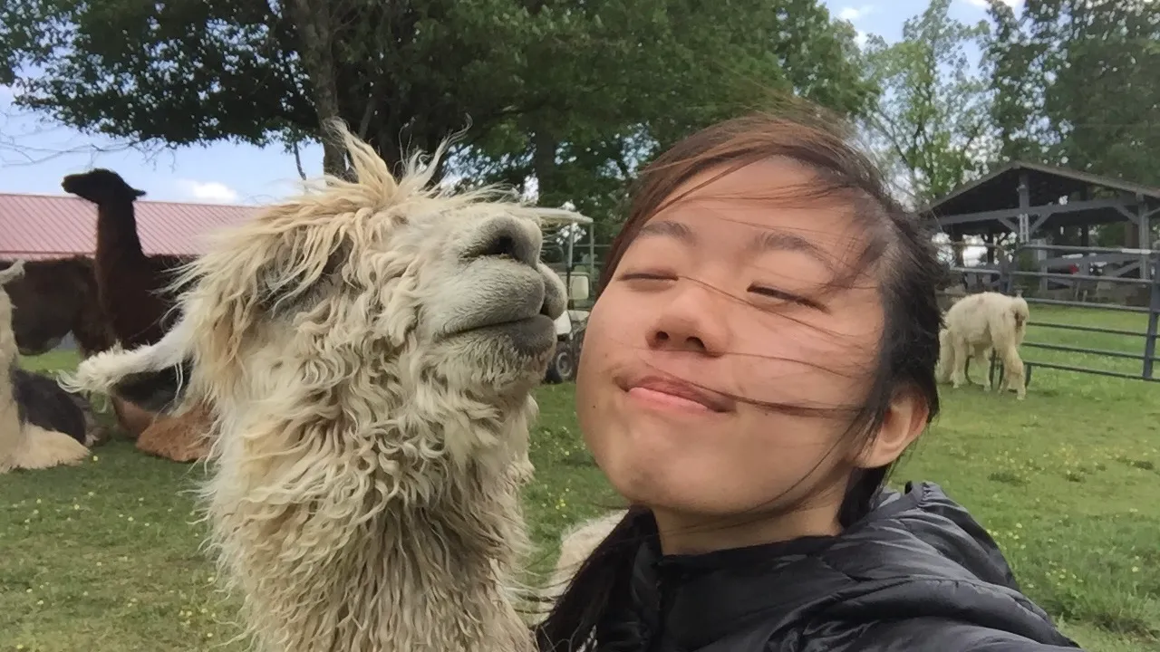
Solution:
[{"label": "dark brown llama body at left edge, left of the upright neck", "polygon": [[[0,270],[12,265],[0,260]],[[70,332],[81,357],[113,346],[90,258],[24,261],[23,276],[9,282],[7,290],[14,312],[12,329],[21,355],[46,353]]]}]

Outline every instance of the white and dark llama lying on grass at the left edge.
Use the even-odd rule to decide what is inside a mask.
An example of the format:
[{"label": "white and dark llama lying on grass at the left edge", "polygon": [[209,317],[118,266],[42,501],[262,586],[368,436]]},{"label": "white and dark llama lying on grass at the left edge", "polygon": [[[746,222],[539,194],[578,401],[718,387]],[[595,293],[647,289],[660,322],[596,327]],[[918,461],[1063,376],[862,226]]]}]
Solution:
[{"label": "white and dark llama lying on grass at the left edge", "polygon": [[78,464],[101,434],[84,401],[51,378],[20,368],[3,285],[23,273],[23,261],[0,271],[0,473]]}]

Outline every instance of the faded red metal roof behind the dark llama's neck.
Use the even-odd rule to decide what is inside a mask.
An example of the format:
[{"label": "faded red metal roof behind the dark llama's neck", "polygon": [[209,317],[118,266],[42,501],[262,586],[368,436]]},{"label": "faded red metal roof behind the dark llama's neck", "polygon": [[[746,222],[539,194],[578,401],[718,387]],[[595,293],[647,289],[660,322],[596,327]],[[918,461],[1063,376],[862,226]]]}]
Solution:
[{"label": "faded red metal roof behind the dark llama's neck", "polygon": [[[148,255],[204,253],[203,237],[254,216],[258,207],[135,202],[137,234]],[[0,193],[0,258],[93,255],[96,205],[72,195]]]}]

